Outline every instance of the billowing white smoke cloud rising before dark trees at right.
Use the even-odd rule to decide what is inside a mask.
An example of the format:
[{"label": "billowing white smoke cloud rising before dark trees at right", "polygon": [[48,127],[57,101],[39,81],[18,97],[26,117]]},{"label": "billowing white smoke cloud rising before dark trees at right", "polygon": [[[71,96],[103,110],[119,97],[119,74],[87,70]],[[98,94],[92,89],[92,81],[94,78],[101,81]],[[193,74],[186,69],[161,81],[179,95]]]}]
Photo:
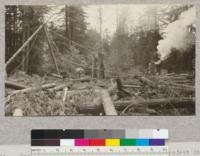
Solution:
[{"label": "billowing white smoke cloud rising before dark trees at right", "polygon": [[170,23],[164,30],[164,37],[158,42],[157,50],[160,61],[165,60],[175,48],[180,52],[187,50],[195,42],[195,35],[189,31],[189,27],[195,24],[195,7],[183,12],[178,20]]}]

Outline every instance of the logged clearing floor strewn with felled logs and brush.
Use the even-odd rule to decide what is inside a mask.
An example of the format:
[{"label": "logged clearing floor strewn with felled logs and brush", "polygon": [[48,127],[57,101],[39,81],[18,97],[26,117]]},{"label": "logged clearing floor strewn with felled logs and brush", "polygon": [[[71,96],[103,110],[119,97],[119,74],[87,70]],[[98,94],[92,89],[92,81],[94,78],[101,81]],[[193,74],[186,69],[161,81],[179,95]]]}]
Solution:
[{"label": "logged clearing floor strewn with felled logs and brush", "polygon": [[[18,71],[7,82],[26,88],[6,88],[6,115],[13,115],[16,109],[22,110],[23,116],[108,115],[110,109],[116,110],[117,115],[192,115],[195,112],[194,79],[189,74],[74,80],[29,76]],[[102,90],[108,91],[111,99],[108,103],[113,108],[103,105],[106,100]]]}]

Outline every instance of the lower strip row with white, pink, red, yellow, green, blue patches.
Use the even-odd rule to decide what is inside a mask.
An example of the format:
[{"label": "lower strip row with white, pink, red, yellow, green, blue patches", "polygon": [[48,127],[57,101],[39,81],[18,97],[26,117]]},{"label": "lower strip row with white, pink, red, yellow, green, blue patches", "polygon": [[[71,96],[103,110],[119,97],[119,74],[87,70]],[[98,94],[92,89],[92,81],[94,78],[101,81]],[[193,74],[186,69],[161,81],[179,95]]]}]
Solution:
[{"label": "lower strip row with white, pink, red, yellow, green, blue patches", "polygon": [[165,139],[32,139],[32,146],[165,146]]}]

